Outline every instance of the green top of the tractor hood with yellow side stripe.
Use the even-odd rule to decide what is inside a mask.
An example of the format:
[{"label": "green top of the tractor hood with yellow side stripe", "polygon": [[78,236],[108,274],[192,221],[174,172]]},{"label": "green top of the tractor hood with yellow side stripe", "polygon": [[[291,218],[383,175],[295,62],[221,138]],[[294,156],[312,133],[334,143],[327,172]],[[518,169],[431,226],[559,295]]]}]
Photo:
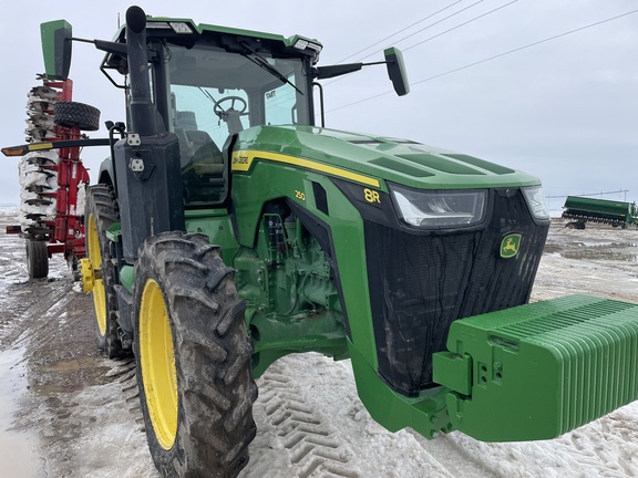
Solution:
[{"label": "green top of the tractor hood with yellow side stripe", "polygon": [[383,190],[383,180],[424,189],[541,184],[525,173],[413,141],[313,126],[257,126],[241,132],[233,170],[248,172],[259,160],[315,169]]}]

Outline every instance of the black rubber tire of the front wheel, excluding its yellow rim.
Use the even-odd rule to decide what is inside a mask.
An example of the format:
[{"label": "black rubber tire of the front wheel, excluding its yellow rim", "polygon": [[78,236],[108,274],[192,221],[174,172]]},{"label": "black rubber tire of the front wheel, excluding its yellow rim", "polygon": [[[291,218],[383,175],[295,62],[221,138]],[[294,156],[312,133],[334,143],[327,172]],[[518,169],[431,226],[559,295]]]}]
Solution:
[{"label": "black rubber tire of the front wheel, excluding its yellow rim", "polygon": [[[166,300],[177,368],[177,437],[165,450],[154,435],[136,361],[148,446],[164,477],[236,477],[248,463],[257,386],[250,373],[245,304],[237,298],[233,272],[204,235],[164,232],[140,248],[135,336],[142,291],[153,279]],[[134,346],[138,357],[137,341]]]}]

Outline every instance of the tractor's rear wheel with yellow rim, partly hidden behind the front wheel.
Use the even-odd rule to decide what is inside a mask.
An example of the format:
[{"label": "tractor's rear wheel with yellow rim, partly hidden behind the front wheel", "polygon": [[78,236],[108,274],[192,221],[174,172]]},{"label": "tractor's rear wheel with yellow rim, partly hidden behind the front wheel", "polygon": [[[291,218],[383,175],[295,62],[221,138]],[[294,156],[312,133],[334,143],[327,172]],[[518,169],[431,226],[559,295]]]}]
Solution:
[{"label": "tractor's rear wheel with yellow rim, partly hidden behind the front wheel", "polygon": [[102,271],[102,279],[95,279],[93,310],[95,312],[95,335],[97,346],[109,358],[130,355],[122,349],[117,333],[117,295],[115,293],[115,266],[112,261],[106,229],[120,222],[120,210],[113,188],[105,184],[91,186],[86,194],[84,231],[86,233],[86,257],[93,270]]}]

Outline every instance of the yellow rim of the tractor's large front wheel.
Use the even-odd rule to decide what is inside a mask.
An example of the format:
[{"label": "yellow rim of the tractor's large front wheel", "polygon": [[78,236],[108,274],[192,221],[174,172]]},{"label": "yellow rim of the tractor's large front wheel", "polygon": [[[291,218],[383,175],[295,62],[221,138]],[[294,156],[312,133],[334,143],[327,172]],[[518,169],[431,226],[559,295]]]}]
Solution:
[{"label": "yellow rim of the tractor's large front wheel", "polygon": [[140,304],[140,361],[146,408],[165,450],[177,435],[177,372],[168,310],[160,285],[148,279]]}]

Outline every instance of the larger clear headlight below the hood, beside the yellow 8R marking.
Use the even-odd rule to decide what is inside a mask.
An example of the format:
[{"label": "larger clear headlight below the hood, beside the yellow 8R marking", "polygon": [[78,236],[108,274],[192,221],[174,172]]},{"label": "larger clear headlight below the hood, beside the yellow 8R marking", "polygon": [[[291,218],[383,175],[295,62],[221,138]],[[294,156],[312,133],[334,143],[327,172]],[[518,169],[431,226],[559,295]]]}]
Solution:
[{"label": "larger clear headlight below the hood, beside the yellow 8R marking", "polygon": [[410,226],[450,228],[471,226],[483,220],[486,190],[426,191],[390,187],[399,215]]}]

